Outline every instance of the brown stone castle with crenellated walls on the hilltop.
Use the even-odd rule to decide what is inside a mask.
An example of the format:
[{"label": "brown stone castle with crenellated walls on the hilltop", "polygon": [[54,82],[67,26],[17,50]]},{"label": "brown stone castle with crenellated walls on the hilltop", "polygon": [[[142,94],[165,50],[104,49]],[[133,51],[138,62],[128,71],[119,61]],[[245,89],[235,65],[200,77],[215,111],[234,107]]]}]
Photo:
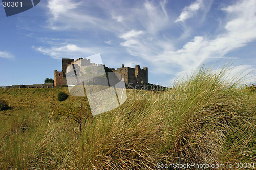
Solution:
[{"label": "brown stone castle with crenellated walls on the hilltop", "polygon": [[[70,64],[73,64],[73,67],[68,67]],[[62,59],[62,71],[54,71],[54,86],[62,86],[67,85],[67,77],[70,76],[72,71],[76,71],[75,74],[77,76],[84,75],[84,70],[80,70],[80,67],[82,66],[103,66],[106,72],[116,72],[118,74],[121,74],[118,79],[121,80],[124,78],[124,82],[126,85],[146,85],[148,83],[148,70],[147,67],[144,67],[143,69],[140,68],[139,65],[136,65],[135,68],[130,67],[124,67],[124,64],[122,64],[121,68],[108,68],[105,65],[102,64],[95,64],[91,63],[90,59],[83,59],[79,58],[77,60],[74,59]],[[67,74],[66,74],[66,69]],[[73,68],[73,69],[72,69]],[[70,80],[71,82],[77,82],[81,83],[81,80]],[[94,77],[94,78],[88,78],[86,80],[87,82],[92,81],[94,83],[97,83],[97,81],[101,81],[100,78]],[[70,83],[70,82],[69,82]]]}]

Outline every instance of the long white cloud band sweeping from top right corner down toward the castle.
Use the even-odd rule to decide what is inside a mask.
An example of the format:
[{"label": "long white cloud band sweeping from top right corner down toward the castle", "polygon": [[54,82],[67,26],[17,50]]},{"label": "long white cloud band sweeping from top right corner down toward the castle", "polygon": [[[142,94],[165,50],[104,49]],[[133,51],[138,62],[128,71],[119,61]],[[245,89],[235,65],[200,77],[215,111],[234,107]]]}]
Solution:
[{"label": "long white cloud band sweeping from top right corner down toward the castle", "polygon": [[[177,72],[180,74],[185,70],[197,68],[206,59],[222,58],[227,53],[254,41],[256,39],[256,32],[254,31],[256,28],[256,9],[251,8],[252,6],[256,6],[256,2],[248,0],[223,8],[222,10],[226,11],[227,15],[232,16],[228,17],[231,19],[227,21],[222,31],[224,33],[215,36],[195,36],[193,40],[187,42],[180,49],[175,50],[169,41],[157,37],[154,41],[160,42],[161,45],[153,43],[155,49],[152,50],[153,48],[148,45],[152,41],[142,37],[142,35],[137,37],[136,41],[132,41],[137,46],[126,43],[121,45],[128,47],[131,54],[153,61],[154,65],[162,72],[172,74],[172,72],[180,70]],[[151,53],[153,51],[155,53]],[[150,57],[148,57],[149,55]]]}]

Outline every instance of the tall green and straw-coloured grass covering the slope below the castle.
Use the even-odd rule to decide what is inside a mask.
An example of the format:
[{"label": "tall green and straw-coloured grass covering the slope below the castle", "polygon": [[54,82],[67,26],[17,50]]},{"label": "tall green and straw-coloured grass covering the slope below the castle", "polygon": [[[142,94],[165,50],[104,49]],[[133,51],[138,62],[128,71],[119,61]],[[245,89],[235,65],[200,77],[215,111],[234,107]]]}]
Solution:
[{"label": "tall green and straw-coloured grass covering the slope below the castle", "polygon": [[[226,69],[201,69],[164,92],[127,90],[120,107],[78,126],[53,89],[0,89],[0,169],[157,169],[157,163],[256,161],[256,95]],[[56,108],[54,110],[54,108]]]}]

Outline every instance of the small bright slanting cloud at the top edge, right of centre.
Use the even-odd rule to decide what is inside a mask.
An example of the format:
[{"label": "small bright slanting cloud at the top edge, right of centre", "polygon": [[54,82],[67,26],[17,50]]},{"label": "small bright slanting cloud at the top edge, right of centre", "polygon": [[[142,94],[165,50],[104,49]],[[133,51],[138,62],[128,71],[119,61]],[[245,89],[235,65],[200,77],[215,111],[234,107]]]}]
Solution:
[{"label": "small bright slanting cloud at the top edge, right of centre", "polygon": [[175,22],[185,22],[188,18],[193,17],[196,12],[203,6],[202,0],[197,0],[196,2],[190,4],[188,7],[185,7],[182,10],[180,16],[176,19]]}]

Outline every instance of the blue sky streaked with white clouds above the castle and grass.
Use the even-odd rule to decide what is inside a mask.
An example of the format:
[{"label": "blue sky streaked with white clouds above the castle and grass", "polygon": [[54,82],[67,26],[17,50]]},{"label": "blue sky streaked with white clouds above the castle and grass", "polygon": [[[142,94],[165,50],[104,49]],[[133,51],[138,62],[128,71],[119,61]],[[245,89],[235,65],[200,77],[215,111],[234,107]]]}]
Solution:
[{"label": "blue sky streaked with white clouds above the castle and grass", "polygon": [[253,76],[255,7],[255,0],[47,0],[6,17],[1,4],[0,85],[42,84],[61,71],[62,58],[98,53],[111,68],[148,67],[154,84],[230,59],[230,77]]}]

